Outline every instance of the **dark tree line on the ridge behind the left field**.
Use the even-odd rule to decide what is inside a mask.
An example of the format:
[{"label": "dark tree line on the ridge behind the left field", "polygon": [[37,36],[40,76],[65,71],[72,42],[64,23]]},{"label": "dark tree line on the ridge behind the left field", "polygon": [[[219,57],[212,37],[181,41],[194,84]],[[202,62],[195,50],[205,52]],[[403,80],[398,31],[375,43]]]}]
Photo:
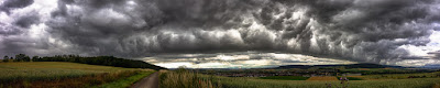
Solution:
[{"label": "dark tree line on the ridge behind the left field", "polygon": [[166,69],[156,65],[152,65],[142,61],[124,59],[114,56],[94,56],[84,57],[79,55],[55,55],[55,56],[33,56],[32,58],[25,54],[18,54],[15,58],[12,56],[4,56],[2,62],[72,62],[90,65],[105,65],[125,68],[151,68],[151,69]]}]

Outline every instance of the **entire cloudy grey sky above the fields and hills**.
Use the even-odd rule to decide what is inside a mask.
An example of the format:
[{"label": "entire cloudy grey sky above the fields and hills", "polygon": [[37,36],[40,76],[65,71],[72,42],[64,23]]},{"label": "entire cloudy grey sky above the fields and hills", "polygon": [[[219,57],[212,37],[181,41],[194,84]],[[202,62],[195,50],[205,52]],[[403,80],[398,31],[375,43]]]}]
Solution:
[{"label": "entire cloudy grey sky above the fields and hills", "polygon": [[0,0],[0,55],[165,67],[440,64],[440,0]]}]

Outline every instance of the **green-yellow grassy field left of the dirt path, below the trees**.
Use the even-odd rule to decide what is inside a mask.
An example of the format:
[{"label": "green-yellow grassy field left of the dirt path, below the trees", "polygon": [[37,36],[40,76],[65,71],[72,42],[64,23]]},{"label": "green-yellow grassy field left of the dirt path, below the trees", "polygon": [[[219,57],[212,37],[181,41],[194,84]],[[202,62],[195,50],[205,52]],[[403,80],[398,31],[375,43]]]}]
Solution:
[{"label": "green-yellow grassy field left of the dirt path, below the trees", "polygon": [[0,63],[0,87],[41,88],[98,86],[154,72],[64,62]]}]

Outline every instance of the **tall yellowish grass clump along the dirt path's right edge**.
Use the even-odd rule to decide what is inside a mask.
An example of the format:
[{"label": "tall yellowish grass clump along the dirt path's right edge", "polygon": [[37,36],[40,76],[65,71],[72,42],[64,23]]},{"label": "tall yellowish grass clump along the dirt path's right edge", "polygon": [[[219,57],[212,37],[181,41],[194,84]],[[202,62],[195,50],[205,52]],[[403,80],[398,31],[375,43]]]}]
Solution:
[{"label": "tall yellowish grass clump along the dirt path's right edge", "polygon": [[161,88],[222,88],[219,82],[212,82],[212,76],[200,75],[179,68],[161,74]]}]

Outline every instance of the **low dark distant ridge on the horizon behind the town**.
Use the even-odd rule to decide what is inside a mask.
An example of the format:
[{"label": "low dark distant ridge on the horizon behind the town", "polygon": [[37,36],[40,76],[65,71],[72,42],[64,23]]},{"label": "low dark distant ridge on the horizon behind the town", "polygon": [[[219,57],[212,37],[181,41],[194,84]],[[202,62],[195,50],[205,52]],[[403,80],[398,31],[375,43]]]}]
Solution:
[{"label": "low dark distant ridge on the horizon behind the town", "polygon": [[275,67],[276,69],[284,69],[284,68],[301,68],[307,69],[311,67],[339,67],[343,66],[345,68],[406,68],[402,66],[391,66],[391,65],[378,65],[378,64],[370,64],[370,63],[361,63],[361,64],[350,64],[350,65],[285,65]]}]

